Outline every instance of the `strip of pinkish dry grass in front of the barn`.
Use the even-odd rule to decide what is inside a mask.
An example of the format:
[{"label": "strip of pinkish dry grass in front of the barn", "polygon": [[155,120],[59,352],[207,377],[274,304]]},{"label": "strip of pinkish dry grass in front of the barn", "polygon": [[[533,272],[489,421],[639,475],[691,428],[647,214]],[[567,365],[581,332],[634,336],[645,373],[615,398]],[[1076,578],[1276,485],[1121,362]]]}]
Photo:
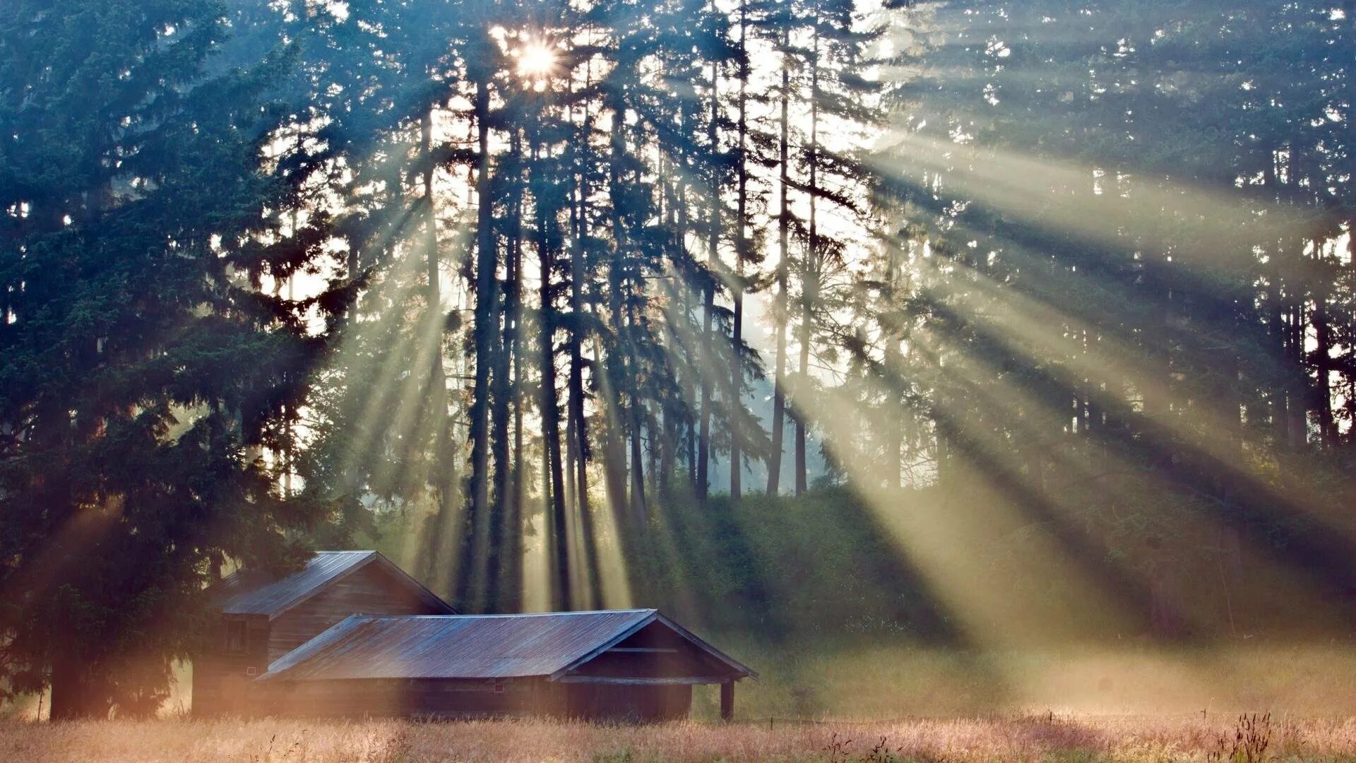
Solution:
[{"label": "strip of pinkish dry grass in front of the barn", "polygon": [[[552,721],[0,722],[0,760],[1246,760],[1231,718],[993,717],[869,725]],[[1267,760],[1356,760],[1356,718],[1272,720]]]}]

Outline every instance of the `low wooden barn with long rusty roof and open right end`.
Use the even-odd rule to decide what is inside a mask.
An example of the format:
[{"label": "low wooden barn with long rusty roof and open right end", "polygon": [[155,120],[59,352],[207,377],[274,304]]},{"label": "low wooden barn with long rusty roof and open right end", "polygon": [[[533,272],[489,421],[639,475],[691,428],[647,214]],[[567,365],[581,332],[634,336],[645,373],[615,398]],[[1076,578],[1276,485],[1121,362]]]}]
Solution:
[{"label": "low wooden barn with long rusty roof and open right end", "polygon": [[685,718],[694,684],[755,677],[655,610],[354,615],[259,677],[271,714]]}]

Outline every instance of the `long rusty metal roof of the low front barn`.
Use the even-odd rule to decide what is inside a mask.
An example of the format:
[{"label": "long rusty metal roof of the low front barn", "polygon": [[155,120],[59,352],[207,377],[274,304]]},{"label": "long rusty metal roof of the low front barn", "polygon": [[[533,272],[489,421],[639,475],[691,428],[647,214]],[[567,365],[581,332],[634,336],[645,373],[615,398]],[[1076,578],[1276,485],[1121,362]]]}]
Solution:
[{"label": "long rusty metal roof of the low front barn", "polygon": [[534,615],[353,615],[279,657],[259,680],[551,676],[662,620],[732,671],[754,675],[656,610]]}]

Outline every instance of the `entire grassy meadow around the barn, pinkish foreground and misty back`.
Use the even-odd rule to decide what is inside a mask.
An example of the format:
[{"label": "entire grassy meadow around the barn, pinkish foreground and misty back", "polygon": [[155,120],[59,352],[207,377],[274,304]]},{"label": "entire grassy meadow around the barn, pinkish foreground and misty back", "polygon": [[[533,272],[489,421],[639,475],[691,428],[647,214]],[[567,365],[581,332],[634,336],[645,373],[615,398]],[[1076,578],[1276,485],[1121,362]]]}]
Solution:
[{"label": "entire grassy meadow around the barn, pinkish foreground and misty back", "polygon": [[0,760],[1356,762],[1356,653],[1345,642],[738,650],[762,676],[740,683],[734,724],[716,721],[709,687],[694,692],[690,722],[644,726],[197,721],[187,695],[157,720],[46,724],[33,722],[28,702],[0,720]]}]

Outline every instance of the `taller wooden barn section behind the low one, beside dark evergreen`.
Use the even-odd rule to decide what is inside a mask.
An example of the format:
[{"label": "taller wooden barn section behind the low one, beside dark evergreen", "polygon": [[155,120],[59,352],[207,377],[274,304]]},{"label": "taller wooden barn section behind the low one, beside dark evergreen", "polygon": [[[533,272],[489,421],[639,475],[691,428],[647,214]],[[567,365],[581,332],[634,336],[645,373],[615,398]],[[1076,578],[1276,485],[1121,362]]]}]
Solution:
[{"label": "taller wooden barn section behind the low one, beside dark evergreen", "polygon": [[456,614],[377,551],[321,551],[281,580],[237,572],[207,593],[213,622],[193,661],[195,715],[259,713],[254,679],[354,612]]}]

